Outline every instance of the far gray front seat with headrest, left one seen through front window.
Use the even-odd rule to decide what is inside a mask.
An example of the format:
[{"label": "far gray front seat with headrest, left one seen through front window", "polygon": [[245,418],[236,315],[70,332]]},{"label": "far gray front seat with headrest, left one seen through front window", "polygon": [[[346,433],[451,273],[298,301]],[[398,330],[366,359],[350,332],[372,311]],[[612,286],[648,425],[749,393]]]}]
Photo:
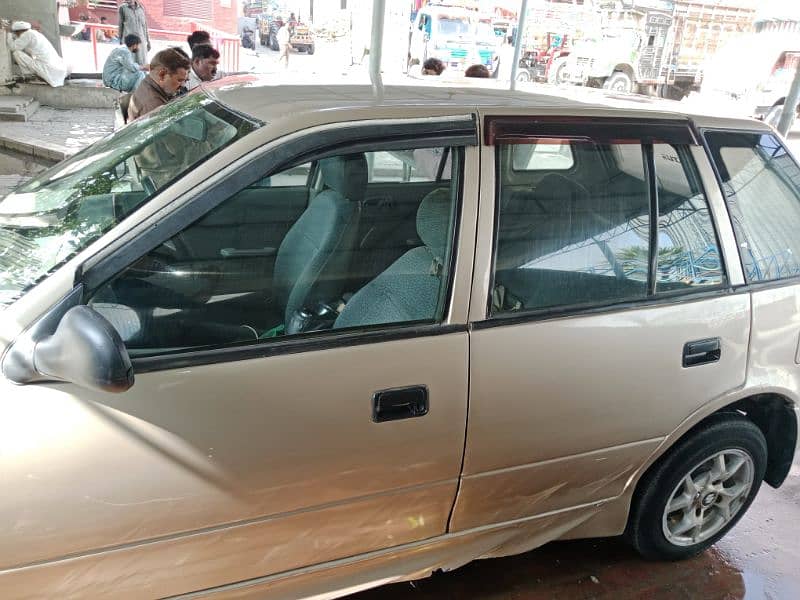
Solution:
[{"label": "far gray front seat with headrest, left one seen through front window", "polygon": [[367,188],[363,154],[319,161],[325,190],[317,194],[278,248],[275,306],[288,324],[295,311],[333,302],[345,291]]}]

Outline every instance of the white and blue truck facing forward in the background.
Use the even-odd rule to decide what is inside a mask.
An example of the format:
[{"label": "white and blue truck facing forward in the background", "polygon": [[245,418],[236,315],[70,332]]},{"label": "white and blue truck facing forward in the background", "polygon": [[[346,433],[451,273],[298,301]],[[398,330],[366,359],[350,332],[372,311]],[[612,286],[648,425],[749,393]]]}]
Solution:
[{"label": "white and blue truck facing forward in the background", "polygon": [[409,36],[408,67],[438,58],[448,70],[463,71],[474,64],[497,77],[502,39],[491,19],[450,4],[426,4],[416,15]]}]

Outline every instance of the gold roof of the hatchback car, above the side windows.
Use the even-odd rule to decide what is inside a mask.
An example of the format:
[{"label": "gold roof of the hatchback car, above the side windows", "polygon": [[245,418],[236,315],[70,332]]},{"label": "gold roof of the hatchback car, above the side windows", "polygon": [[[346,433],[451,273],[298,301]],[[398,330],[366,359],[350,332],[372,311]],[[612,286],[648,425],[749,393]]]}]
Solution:
[{"label": "gold roof of the hatchback car, above the side windows", "polygon": [[[341,78],[339,79],[341,81]],[[414,85],[386,85],[378,91],[359,83],[293,83],[291,77],[240,75],[204,84],[202,89],[219,102],[265,123],[296,122],[307,126],[341,122],[348,118],[410,118],[430,114],[547,114],[653,119],[691,119],[699,127],[764,129],[769,127],[735,114],[720,115],[717,106],[697,107],[686,102],[635,94],[614,94],[577,86],[520,84],[499,87],[494,80],[463,76],[447,80],[423,77]],[[334,113],[334,114],[331,114]],[[323,117],[322,115],[327,115]],[[296,129],[303,129],[297,126]]]}]

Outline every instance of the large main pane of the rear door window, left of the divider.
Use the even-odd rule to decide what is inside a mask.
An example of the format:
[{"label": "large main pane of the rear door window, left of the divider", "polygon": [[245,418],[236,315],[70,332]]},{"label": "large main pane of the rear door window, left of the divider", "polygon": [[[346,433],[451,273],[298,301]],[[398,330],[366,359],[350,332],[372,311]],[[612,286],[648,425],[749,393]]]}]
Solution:
[{"label": "large main pane of the rear door window, left of the divider", "polygon": [[[633,148],[642,161],[641,147]],[[614,146],[572,142],[569,150],[581,165],[570,176],[549,171],[530,182],[500,182],[495,313],[647,294],[645,181],[606,171]],[[501,152],[501,161],[509,154]],[[599,181],[593,179],[598,171],[606,172]]]}]

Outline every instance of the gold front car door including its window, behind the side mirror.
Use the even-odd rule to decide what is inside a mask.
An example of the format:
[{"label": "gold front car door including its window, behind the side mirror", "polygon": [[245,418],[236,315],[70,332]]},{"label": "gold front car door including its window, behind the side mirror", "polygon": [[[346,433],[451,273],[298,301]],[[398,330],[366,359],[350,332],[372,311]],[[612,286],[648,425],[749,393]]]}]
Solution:
[{"label": "gold front car door including its window, behind the side mirror", "polygon": [[[451,295],[471,277],[474,234],[459,232],[474,230],[477,149],[348,132],[358,152],[261,173],[89,285],[136,383],[15,391],[4,589],[162,597],[445,532],[469,360],[467,300]],[[385,212],[362,227],[376,195]],[[369,238],[392,221],[409,233]]]}]

